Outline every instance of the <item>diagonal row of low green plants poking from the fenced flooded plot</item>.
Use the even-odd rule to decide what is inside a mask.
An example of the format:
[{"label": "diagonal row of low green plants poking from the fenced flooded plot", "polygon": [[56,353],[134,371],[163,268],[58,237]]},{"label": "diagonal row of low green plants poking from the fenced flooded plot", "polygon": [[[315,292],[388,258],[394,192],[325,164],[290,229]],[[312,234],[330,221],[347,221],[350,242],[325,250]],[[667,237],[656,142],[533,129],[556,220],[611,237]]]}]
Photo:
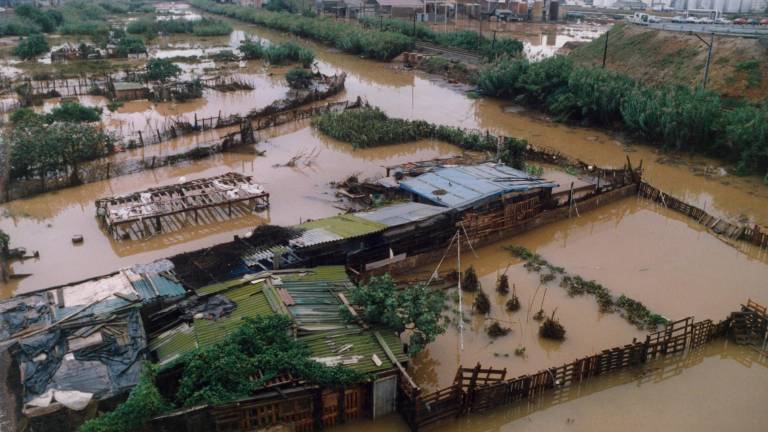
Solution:
[{"label": "diagonal row of low green plants poking from the fenced flooded plot", "polygon": [[[613,294],[600,283],[585,280],[578,275],[570,275],[562,267],[550,264],[541,255],[531,252],[522,246],[508,246],[507,250],[525,260],[525,267],[528,271],[542,272],[547,270],[546,274],[542,274],[542,284],[553,281],[556,279],[555,275],[560,275],[560,286],[566,289],[569,296],[589,294],[595,297],[600,311],[603,313],[618,311],[627,321],[640,329],[653,330],[667,322],[664,317],[651,312],[639,301],[623,294],[618,299],[614,299]],[[551,275],[551,278],[546,278],[546,282],[545,275]],[[543,311],[540,312],[543,314]]]}]

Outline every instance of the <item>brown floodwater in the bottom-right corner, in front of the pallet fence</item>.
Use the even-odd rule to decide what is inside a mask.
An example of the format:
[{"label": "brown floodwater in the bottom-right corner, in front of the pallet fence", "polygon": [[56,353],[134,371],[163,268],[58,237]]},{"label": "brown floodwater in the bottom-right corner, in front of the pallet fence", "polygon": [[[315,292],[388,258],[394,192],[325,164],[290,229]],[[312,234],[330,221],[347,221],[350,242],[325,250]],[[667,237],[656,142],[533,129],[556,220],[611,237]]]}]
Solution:
[{"label": "brown floodwater in the bottom-right corner, in front of the pallet fence", "polygon": [[[650,362],[527,402],[433,427],[440,431],[765,430],[768,359],[751,348],[715,341],[681,357]],[[509,375],[508,375],[509,376]],[[349,423],[335,432],[407,431],[397,415]]]}]

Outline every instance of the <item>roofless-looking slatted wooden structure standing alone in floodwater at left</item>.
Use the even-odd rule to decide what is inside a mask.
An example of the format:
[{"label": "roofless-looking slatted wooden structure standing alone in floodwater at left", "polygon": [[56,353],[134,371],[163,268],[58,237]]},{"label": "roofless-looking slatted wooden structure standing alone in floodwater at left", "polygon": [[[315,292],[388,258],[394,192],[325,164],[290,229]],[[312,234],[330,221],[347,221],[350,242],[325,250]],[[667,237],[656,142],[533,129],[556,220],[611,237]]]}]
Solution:
[{"label": "roofless-looking slatted wooden structure standing alone in floodwater at left", "polygon": [[[269,207],[269,193],[251,176],[230,172],[96,201],[96,215],[117,240],[135,240],[215,223]],[[193,216],[190,219],[190,214]]]}]

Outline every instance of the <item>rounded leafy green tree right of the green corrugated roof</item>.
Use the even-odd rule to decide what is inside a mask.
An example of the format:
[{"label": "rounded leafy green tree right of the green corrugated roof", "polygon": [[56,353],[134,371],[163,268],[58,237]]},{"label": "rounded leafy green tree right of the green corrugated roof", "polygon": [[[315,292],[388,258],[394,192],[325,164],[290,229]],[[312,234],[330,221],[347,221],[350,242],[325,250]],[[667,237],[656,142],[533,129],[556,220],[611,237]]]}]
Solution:
[{"label": "rounded leafy green tree right of the green corrugated roof", "polygon": [[[374,276],[368,283],[352,288],[349,301],[359,307],[360,317],[366,323],[390,328],[398,334],[407,332],[410,355],[434,342],[448,325],[443,315],[445,294],[442,291],[432,291],[424,285],[398,291],[388,274]],[[348,313],[346,308],[342,311]]]}]

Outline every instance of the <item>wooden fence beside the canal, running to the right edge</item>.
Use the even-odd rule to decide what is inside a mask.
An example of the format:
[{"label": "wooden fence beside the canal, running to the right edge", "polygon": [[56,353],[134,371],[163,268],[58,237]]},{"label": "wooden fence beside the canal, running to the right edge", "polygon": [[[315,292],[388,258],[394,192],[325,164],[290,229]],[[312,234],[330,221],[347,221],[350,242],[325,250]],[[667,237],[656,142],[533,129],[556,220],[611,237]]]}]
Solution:
[{"label": "wooden fence beside the canal, running to the right edge", "polygon": [[704,210],[679,200],[666,192],[662,192],[646,182],[640,183],[638,194],[643,198],[660,203],[666,208],[688,216],[719,235],[729,239],[743,240],[760,248],[768,249],[768,231],[764,231],[758,225],[748,227],[732,224],[722,218],[714,217]]}]

